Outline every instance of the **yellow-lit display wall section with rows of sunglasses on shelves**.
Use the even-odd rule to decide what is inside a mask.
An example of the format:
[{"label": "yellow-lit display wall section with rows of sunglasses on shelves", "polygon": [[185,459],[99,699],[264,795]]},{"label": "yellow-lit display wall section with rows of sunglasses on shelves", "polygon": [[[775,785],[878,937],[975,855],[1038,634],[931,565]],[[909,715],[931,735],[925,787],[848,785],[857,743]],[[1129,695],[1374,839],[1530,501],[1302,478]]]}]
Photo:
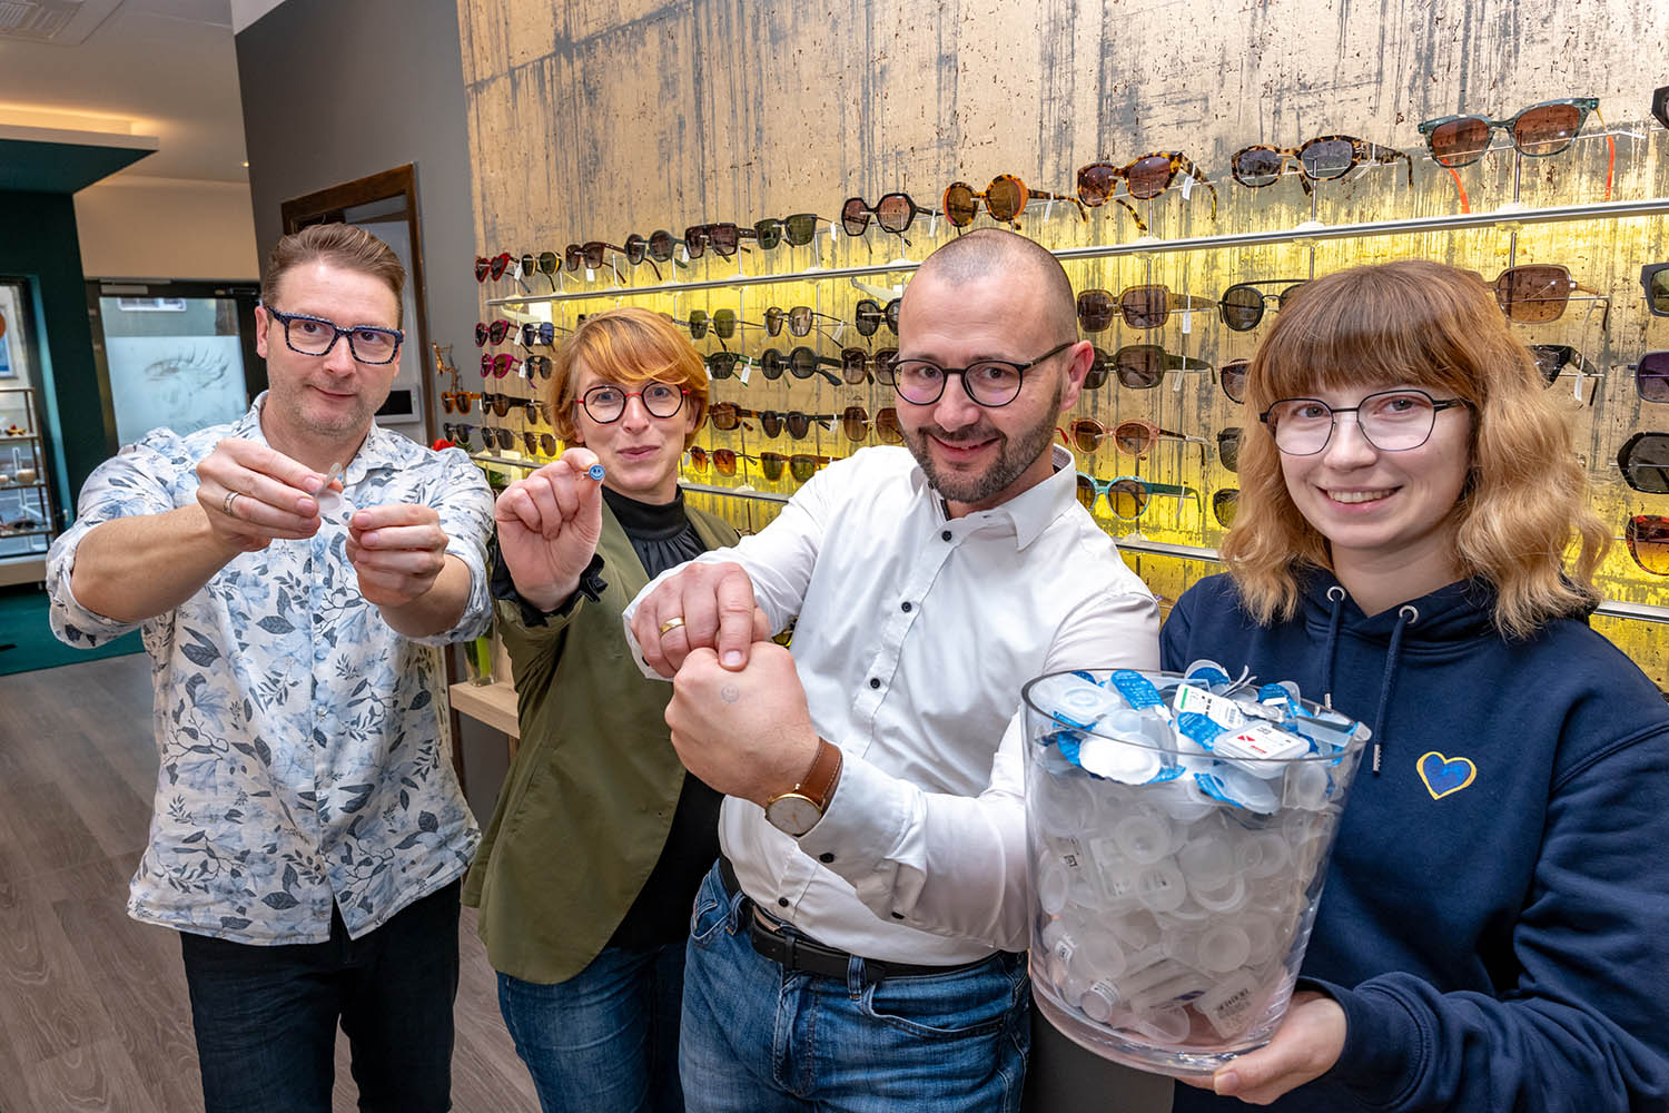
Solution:
[{"label": "yellow-lit display wall section with rows of sunglasses on shelves", "polygon": [[[734,235],[681,225],[659,240],[671,252],[659,279],[629,257],[587,275],[584,257],[569,270],[557,252],[557,274],[534,259],[536,280],[511,264],[494,280],[486,257],[481,350],[526,360],[524,325],[537,339],[549,324],[561,342],[582,314],[616,304],[681,322],[708,360],[714,404],[684,479],[753,529],[826,461],[901,442],[888,369],[905,284],[963,230],[1018,229],[1061,259],[1080,337],[1097,349],[1056,439],[1077,459],[1080,499],[1150,586],[1175,597],[1218,571],[1238,506],[1247,365],[1283,300],[1360,262],[1439,259],[1480,275],[1571,410],[1596,509],[1616,522],[1606,594],[1669,607],[1669,576],[1631,561],[1624,544],[1626,522],[1669,516],[1669,481],[1662,494],[1639,491],[1616,466],[1631,434],[1669,431],[1669,409],[1656,415],[1669,397],[1669,320],[1654,315],[1669,314],[1669,197],[1657,195],[1669,137],[1649,120],[1607,125],[1584,98],[1484,108],[1390,135],[1247,142],[1217,159],[1172,142],[1083,159],[1077,175],[986,167],[948,185],[804,199],[821,215],[804,205],[799,215],[814,219],[794,235],[791,219],[774,217],[781,239],[739,217]],[[1404,145],[1385,145],[1395,138]],[[499,319],[517,327],[494,347]],[[462,389],[532,395],[542,382],[512,365]],[[526,414],[507,414],[519,437]],[[1636,527],[1634,551],[1652,552],[1654,537]]]}]

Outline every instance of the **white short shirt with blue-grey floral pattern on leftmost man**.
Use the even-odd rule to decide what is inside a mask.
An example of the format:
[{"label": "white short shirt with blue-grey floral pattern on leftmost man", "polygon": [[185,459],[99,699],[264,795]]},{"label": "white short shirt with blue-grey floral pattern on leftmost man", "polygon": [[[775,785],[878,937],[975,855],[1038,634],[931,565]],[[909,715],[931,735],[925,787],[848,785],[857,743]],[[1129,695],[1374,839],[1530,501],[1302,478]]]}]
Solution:
[{"label": "white short shirt with blue-grey floral pattern on leftmost man", "polygon": [[[110,519],[190,506],[224,437],[265,444],[260,407],[189,436],[155,429],[100,464],[52,546],[52,631],[97,646],[135,627],[70,591],[75,549]],[[432,506],[471,576],[444,634],[394,632],[359,594],[345,514],[305,541],[232,559],[184,604],[139,624],[162,768],[129,914],[239,943],[322,943],[332,904],[350,936],[451,883],[481,831],[452,774],[439,646],[487,622],[492,494],[469,457],[372,427],[342,476],[352,507]],[[332,517],[335,521],[332,521]]]}]

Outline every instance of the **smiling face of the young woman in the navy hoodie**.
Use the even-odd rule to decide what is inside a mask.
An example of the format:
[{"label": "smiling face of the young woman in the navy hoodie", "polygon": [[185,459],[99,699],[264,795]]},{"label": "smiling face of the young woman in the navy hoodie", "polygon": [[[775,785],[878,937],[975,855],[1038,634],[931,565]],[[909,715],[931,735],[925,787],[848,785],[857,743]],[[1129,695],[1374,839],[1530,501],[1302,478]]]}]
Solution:
[{"label": "smiling face of the young woman in the navy hoodie", "polygon": [[[1359,405],[1364,397],[1414,384],[1322,387],[1308,395],[1332,409]],[[1427,390],[1430,390],[1427,387]],[[1452,395],[1437,395],[1437,400]],[[1460,579],[1454,554],[1472,462],[1472,410],[1440,410],[1425,444],[1387,452],[1362,436],[1355,414],[1337,415],[1327,447],[1312,456],[1280,454],[1287,494],[1300,514],[1327,537],[1334,571],[1352,581],[1372,577],[1382,586],[1367,594],[1414,599]]]}]

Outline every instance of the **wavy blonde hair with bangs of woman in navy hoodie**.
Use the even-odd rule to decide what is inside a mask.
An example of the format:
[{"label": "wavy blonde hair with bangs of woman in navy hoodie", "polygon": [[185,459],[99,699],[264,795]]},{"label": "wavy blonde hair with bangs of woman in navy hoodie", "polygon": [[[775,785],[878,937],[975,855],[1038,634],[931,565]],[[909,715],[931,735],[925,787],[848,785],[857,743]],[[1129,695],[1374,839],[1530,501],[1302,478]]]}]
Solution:
[{"label": "wavy blonde hair with bangs of woman in navy hoodie", "polygon": [[[1298,512],[1280,451],[1258,414],[1320,387],[1409,384],[1472,404],[1455,562],[1489,581],[1495,627],[1529,637],[1599,596],[1611,532],[1545,379],[1475,274],[1425,260],[1340,270],[1293,290],[1247,370],[1240,509],[1222,556],[1263,624],[1298,607],[1303,567],[1332,567],[1327,539]],[[1576,539],[1574,571],[1564,566]]]}]

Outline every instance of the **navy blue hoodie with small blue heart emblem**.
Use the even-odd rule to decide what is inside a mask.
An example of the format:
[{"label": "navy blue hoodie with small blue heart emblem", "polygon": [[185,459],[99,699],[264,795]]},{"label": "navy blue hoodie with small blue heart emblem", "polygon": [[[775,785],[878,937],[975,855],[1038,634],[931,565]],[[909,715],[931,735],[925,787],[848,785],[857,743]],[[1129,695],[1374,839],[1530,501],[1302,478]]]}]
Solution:
[{"label": "navy blue hoodie with small blue heart emblem", "polygon": [[1300,981],[1349,1035],[1272,1108],[1666,1108],[1669,706],[1584,622],[1509,642],[1492,602],[1462,581],[1367,617],[1312,571],[1263,627],[1213,576],[1160,634],[1167,669],[1247,666],[1374,728]]}]

